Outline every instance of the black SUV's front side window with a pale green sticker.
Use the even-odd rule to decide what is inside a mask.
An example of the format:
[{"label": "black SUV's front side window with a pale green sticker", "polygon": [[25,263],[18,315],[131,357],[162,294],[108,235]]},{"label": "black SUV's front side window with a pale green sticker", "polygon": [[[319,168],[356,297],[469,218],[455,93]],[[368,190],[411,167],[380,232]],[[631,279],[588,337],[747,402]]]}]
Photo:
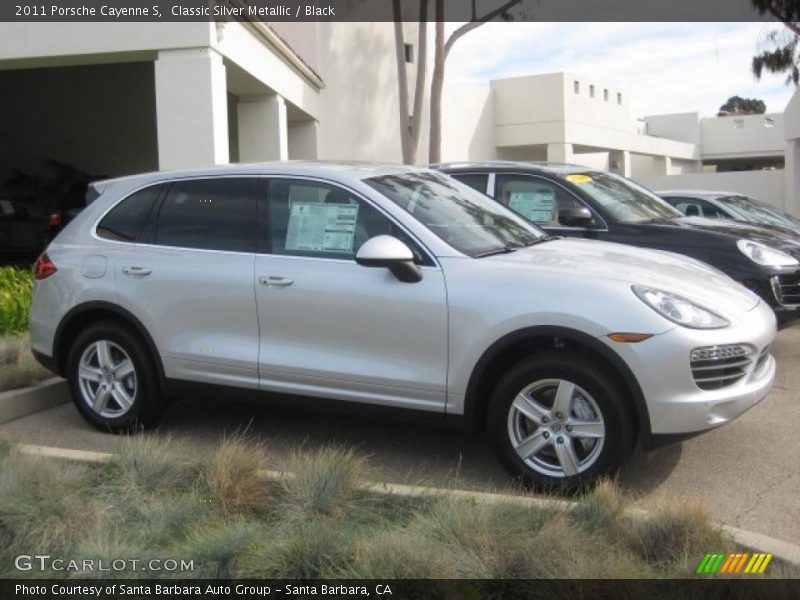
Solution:
[{"label": "black SUV's front side window with a pale green sticker", "polygon": [[563,211],[584,204],[560,185],[527,175],[498,175],[495,198],[539,227],[559,227]]}]

